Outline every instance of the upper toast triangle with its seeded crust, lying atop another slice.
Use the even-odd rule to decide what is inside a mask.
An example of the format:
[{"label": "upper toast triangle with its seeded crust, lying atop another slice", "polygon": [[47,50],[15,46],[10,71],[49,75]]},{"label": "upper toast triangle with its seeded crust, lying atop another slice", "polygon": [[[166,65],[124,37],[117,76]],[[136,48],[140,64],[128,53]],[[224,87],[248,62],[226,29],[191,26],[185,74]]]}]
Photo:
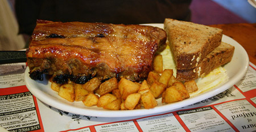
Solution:
[{"label": "upper toast triangle with its seeded crust, lying atop another slice", "polygon": [[221,44],[222,29],[207,25],[165,19],[164,30],[179,70],[195,68]]}]

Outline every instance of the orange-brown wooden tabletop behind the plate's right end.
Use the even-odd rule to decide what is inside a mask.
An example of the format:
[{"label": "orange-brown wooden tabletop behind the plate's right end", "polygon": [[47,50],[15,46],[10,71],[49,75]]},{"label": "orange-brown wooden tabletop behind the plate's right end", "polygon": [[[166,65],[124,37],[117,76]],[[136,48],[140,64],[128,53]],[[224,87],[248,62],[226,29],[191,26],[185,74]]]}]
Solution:
[{"label": "orange-brown wooden tabletop behind the plate's right end", "polygon": [[223,30],[223,34],[236,40],[245,48],[250,62],[256,65],[256,23],[209,25]]}]

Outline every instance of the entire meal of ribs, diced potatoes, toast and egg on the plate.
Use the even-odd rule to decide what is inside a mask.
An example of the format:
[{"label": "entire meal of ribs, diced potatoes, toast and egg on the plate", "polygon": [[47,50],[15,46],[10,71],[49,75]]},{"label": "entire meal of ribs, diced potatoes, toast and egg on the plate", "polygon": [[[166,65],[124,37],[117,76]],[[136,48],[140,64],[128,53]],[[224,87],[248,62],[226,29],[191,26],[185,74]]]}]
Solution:
[{"label": "entire meal of ribs, diced potatoes, toast and egg on the plate", "polygon": [[[185,100],[228,79],[221,65],[231,61],[234,46],[221,37],[221,29],[174,19],[166,19],[164,29],[38,20],[27,65],[31,79],[46,74],[65,100],[110,110],[151,109],[159,100]],[[206,86],[217,75],[221,80]]]}]

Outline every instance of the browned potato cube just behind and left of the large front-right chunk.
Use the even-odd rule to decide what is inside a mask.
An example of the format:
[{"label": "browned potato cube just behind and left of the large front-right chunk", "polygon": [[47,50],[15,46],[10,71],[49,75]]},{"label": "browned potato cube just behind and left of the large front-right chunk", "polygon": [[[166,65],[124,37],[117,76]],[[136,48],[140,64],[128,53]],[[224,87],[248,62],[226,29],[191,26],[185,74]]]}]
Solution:
[{"label": "browned potato cube just behind and left of the large front-right chunk", "polygon": [[155,98],[159,97],[164,90],[166,90],[166,86],[158,81],[154,82],[150,87],[150,91]]}]

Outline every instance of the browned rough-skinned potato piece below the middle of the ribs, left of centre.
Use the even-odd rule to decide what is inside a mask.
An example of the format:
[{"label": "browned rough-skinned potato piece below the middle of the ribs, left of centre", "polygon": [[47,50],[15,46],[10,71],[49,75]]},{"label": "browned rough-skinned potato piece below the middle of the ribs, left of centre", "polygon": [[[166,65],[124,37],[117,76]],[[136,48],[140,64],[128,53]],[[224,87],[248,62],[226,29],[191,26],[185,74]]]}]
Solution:
[{"label": "browned rough-skinned potato piece below the middle of the ribs, left of centre", "polygon": [[115,89],[118,89],[117,78],[106,80],[100,85],[99,95],[105,95],[106,93],[112,92]]}]

